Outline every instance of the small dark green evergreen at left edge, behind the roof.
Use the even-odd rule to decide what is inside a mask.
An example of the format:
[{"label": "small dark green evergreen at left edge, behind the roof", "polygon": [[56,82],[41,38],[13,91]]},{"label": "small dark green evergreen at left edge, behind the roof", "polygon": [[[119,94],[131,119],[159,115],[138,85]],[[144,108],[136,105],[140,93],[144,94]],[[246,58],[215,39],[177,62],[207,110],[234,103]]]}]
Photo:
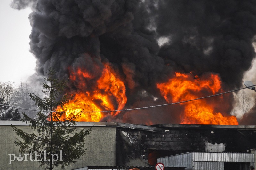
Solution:
[{"label": "small dark green evergreen at left edge, behind the roof", "polygon": [[[18,109],[10,108],[9,103],[4,102],[4,98],[0,98],[0,120],[20,120],[20,113]],[[3,105],[4,106],[3,106]]]}]

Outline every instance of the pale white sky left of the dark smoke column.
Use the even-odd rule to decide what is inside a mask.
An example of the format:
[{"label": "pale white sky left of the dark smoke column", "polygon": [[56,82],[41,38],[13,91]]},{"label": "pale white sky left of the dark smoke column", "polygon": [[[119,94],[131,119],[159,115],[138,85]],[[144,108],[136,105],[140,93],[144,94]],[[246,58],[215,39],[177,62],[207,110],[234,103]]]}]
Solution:
[{"label": "pale white sky left of the dark smoke column", "polygon": [[10,7],[12,0],[0,0],[0,82],[15,82],[35,73],[36,59],[29,52],[30,8],[15,10]]}]

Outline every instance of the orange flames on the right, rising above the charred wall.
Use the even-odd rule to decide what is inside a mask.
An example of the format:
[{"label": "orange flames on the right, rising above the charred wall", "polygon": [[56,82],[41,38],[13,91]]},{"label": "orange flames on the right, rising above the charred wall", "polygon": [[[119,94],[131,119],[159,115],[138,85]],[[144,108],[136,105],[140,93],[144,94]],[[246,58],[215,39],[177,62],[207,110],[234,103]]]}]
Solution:
[{"label": "orange flames on the right, rising above the charred wall", "polygon": [[[205,94],[216,94],[221,92],[221,81],[217,74],[210,74],[202,80],[192,73],[176,73],[176,77],[168,82],[157,84],[161,95],[169,103],[196,99]],[[217,125],[238,125],[235,116],[223,116],[214,112],[214,104],[207,103],[204,99],[182,103],[184,114],[180,115],[181,124],[217,124]],[[217,103],[215,103],[217,104]]]}]

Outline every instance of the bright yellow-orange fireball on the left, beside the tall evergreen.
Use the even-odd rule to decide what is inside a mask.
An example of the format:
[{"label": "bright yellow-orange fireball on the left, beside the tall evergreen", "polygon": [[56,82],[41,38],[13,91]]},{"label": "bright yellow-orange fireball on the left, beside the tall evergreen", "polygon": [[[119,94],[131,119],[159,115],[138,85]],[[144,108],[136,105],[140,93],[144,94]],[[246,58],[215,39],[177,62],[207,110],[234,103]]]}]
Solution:
[{"label": "bright yellow-orange fireball on the left, beside the tall evergreen", "polygon": [[[68,118],[68,112],[91,112],[82,113],[76,121],[99,122],[104,117],[104,114],[100,111],[121,110],[124,107],[127,101],[124,82],[117,78],[116,73],[108,63],[104,66],[102,75],[92,91],[76,93],[74,98],[68,104],[65,104],[64,112],[66,113],[62,116],[62,119]],[[71,72],[70,74],[70,79],[73,81],[76,79],[90,80],[92,78],[94,78],[92,75],[80,68],[76,73]],[[79,88],[86,90],[86,83],[81,82]],[[60,108],[58,108],[58,112],[61,112]],[[111,112],[111,115],[116,116],[118,113]]]}]

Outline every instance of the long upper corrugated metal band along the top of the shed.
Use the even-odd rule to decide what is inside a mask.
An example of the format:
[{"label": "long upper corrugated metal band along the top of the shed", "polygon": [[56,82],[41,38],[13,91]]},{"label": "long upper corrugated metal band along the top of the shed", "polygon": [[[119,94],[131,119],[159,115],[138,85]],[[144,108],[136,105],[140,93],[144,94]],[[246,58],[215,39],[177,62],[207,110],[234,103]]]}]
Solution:
[{"label": "long upper corrugated metal band along the top of the shed", "polygon": [[192,152],[192,161],[207,162],[254,162],[254,154],[250,153],[206,153]]}]

